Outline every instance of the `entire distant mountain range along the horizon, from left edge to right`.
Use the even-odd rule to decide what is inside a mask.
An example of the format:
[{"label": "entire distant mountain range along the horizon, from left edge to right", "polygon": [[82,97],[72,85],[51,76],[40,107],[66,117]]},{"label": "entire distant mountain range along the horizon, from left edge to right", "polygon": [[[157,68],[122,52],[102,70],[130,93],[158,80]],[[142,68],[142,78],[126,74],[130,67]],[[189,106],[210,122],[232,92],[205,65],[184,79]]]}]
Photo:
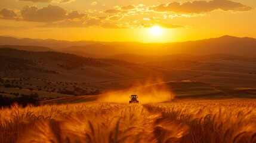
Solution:
[{"label": "entire distant mountain range along the horizon, from left edge to right", "polygon": [[[94,41],[56,41],[53,39],[17,39],[0,36],[0,45],[18,45],[31,51],[61,51],[85,57],[111,57],[120,54],[143,56],[164,56],[172,54],[211,55],[230,54],[240,57],[256,58],[256,39],[222,36],[220,38],[175,43],[137,43],[137,42],[94,42]],[[21,45],[23,47],[21,47]],[[34,46],[33,48],[31,46]],[[2,47],[2,46],[1,46]],[[43,48],[45,47],[45,48]],[[17,47],[16,47],[17,48]],[[51,49],[48,49],[51,48]],[[34,49],[34,50],[32,50]]]}]

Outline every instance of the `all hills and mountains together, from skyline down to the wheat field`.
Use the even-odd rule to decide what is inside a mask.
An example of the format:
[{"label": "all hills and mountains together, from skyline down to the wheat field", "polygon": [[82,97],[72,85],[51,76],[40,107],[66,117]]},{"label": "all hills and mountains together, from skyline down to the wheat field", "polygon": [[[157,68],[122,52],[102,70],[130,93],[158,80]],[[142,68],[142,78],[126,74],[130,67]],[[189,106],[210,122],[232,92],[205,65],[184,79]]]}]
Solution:
[{"label": "all hills and mountains together, from skyline down to the wheat field", "polygon": [[42,98],[94,95],[156,82],[167,83],[180,98],[255,94],[256,52],[251,38],[223,36],[181,43],[10,39],[33,46],[10,45],[8,40],[0,46],[0,91],[8,94],[36,89]]}]

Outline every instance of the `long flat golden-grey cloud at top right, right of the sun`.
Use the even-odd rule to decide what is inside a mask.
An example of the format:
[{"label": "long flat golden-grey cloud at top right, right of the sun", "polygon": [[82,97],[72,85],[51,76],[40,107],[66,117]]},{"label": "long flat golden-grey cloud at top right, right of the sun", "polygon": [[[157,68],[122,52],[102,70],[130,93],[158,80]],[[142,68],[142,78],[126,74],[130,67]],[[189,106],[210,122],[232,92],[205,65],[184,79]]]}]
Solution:
[{"label": "long flat golden-grey cloud at top right, right of the sun", "polygon": [[193,1],[193,2],[171,2],[150,8],[153,11],[172,11],[175,13],[206,13],[214,10],[243,12],[252,10],[251,7],[232,2],[229,0]]}]

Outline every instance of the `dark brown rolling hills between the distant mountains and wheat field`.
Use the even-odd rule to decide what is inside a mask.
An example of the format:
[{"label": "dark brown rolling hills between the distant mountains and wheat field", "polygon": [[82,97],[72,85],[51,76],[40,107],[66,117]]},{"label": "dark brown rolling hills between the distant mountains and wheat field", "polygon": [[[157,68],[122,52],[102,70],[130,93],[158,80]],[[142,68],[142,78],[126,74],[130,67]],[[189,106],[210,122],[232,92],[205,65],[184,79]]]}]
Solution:
[{"label": "dark brown rolling hills between the distant mountains and wheat field", "polygon": [[[140,64],[56,51],[0,48],[0,91],[8,96],[37,93],[41,98],[51,99],[132,89],[120,94],[127,96],[133,89],[146,85],[146,91],[153,90],[156,95],[159,87],[169,88],[178,98],[254,97],[255,94],[256,74],[247,73],[247,70],[255,71],[251,58],[233,55],[135,57]],[[156,58],[168,60],[147,62]]]}]

